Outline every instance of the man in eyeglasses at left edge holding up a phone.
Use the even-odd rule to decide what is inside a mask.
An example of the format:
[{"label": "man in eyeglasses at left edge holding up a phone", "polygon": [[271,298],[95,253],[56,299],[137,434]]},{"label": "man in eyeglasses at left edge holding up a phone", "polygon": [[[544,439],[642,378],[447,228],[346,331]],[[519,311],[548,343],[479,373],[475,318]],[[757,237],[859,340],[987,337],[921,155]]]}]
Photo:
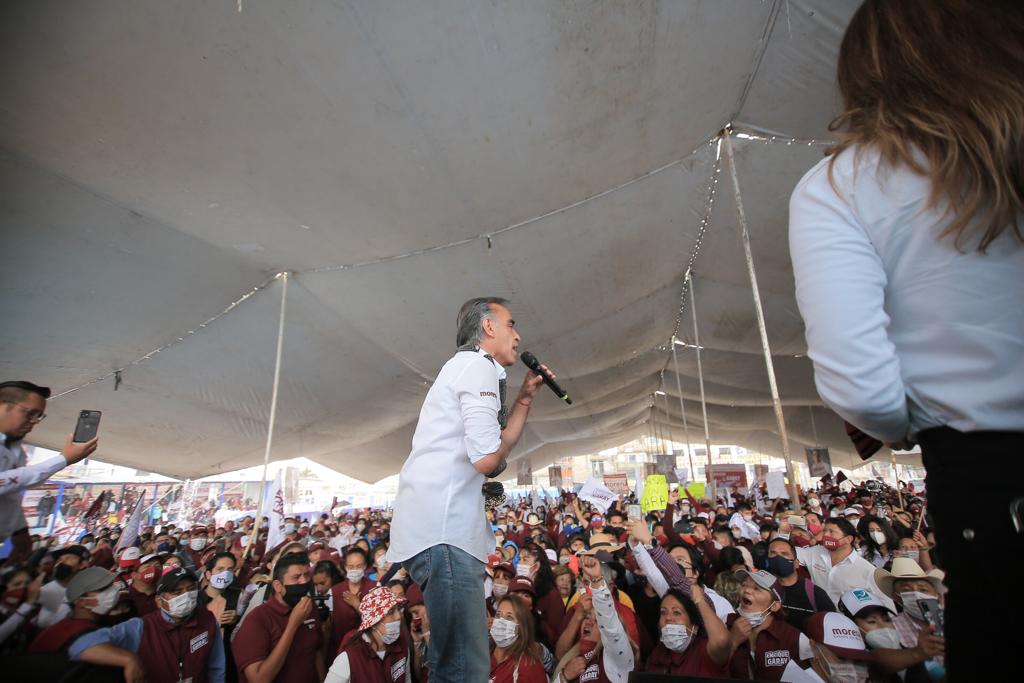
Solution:
[{"label": "man in eyeglasses at left edge holding up a phone", "polygon": [[22,439],[46,417],[50,390],[32,382],[0,382],[0,544],[14,546],[11,559],[19,561],[32,550],[29,522],[22,510],[25,489],[49,479],[57,471],[84,460],[96,450],[98,437],[84,443],[68,435],[62,455],[28,465]]}]

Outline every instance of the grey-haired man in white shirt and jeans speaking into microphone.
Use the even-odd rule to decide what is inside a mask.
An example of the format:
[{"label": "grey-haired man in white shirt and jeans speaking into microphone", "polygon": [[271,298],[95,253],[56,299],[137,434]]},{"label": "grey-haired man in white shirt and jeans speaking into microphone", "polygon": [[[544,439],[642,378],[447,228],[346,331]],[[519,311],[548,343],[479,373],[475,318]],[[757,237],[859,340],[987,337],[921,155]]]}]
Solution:
[{"label": "grey-haired man in white shirt and jeans speaking into microphone", "polygon": [[483,577],[495,535],[482,485],[505,469],[544,383],[541,375],[527,373],[506,407],[505,368],[516,361],[519,334],[505,299],[464,303],[457,346],[420,410],[413,451],[398,478],[387,554],[423,589],[431,683],[489,678]]}]

